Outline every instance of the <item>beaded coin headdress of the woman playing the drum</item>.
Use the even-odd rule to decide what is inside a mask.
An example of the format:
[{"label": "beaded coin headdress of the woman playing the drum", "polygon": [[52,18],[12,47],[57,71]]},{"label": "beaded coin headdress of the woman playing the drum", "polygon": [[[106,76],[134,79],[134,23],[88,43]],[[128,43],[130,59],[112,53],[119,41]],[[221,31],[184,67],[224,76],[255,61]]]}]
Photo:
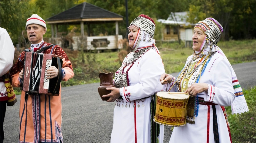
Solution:
[{"label": "beaded coin headdress of the woman playing the drum", "polygon": [[[214,18],[206,18],[203,21],[199,21],[195,28],[201,29],[210,42],[214,45],[217,45],[220,40],[220,35],[223,32],[223,27],[221,24]],[[194,28],[194,29],[195,29]]]}]

